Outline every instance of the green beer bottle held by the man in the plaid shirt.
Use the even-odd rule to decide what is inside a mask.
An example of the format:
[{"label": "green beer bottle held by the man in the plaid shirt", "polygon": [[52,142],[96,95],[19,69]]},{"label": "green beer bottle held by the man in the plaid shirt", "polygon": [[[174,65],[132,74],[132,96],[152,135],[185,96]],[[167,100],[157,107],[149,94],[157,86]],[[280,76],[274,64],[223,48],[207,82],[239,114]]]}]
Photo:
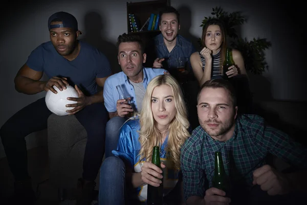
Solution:
[{"label": "green beer bottle held by the man in the plaid shirt", "polygon": [[212,179],[212,187],[223,190],[226,192],[226,196],[230,197],[230,182],[228,176],[226,175],[222,153],[215,152],[215,167],[214,167],[214,176]]}]

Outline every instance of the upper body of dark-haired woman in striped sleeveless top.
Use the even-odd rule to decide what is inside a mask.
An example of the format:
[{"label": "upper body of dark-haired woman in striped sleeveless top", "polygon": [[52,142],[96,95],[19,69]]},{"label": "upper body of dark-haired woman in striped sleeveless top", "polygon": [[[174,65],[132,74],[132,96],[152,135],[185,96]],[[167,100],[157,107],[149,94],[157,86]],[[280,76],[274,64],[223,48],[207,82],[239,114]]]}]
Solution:
[{"label": "upper body of dark-haired woman in striped sleeveless top", "polygon": [[[222,66],[227,44],[225,28],[220,20],[211,18],[206,22],[203,27],[202,43],[205,47],[190,56],[192,70],[200,86],[207,80],[223,76]],[[228,68],[226,73],[228,77],[247,75],[241,53],[232,49],[232,58],[235,65]]]}]

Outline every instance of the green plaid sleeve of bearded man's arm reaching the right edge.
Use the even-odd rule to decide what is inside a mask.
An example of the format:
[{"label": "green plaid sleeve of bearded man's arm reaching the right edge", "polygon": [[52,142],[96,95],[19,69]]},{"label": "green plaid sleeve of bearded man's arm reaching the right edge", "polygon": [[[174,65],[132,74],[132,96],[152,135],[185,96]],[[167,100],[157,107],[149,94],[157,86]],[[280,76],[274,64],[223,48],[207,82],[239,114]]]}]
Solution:
[{"label": "green plaid sleeve of bearded man's arm reaching the right edge", "polygon": [[307,148],[288,134],[266,127],[264,142],[267,150],[297,168],[307,169]]}]

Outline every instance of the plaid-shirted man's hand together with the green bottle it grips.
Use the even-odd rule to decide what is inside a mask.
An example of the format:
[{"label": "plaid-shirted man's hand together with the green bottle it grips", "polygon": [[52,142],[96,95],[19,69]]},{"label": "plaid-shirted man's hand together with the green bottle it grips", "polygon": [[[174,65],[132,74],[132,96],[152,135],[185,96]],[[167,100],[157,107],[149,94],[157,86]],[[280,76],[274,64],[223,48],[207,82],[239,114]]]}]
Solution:
[{"label": "plaid-shirted man's hand together with the green bottle it grips", "polygon": [[224,202],[228,204],[231,202],[230,197],[230,183],[226,175],[222,154],[215,152],[215,168],[212,180],[212,188],[206,190],[205,202],[211,204],[213,202]]}]

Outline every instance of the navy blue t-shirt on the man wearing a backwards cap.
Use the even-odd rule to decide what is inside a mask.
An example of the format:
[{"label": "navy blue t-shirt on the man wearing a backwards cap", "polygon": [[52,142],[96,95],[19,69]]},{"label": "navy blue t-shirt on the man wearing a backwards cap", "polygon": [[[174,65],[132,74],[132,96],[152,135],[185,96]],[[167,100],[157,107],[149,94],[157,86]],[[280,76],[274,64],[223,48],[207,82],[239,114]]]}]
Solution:
[{"label": "navy blue t-shirt on the man wearing a backwards cap", "polygon": [[112,74],[108,59],[97,48],[80,43],[78,56],[69,61],[55,50],[51,41],[39,45],[28,57],[27,66],[35,71],[45,72],[49,78],[67,77],[71,86],[77,85],[85,95],[94,95],[97,78]]}]

